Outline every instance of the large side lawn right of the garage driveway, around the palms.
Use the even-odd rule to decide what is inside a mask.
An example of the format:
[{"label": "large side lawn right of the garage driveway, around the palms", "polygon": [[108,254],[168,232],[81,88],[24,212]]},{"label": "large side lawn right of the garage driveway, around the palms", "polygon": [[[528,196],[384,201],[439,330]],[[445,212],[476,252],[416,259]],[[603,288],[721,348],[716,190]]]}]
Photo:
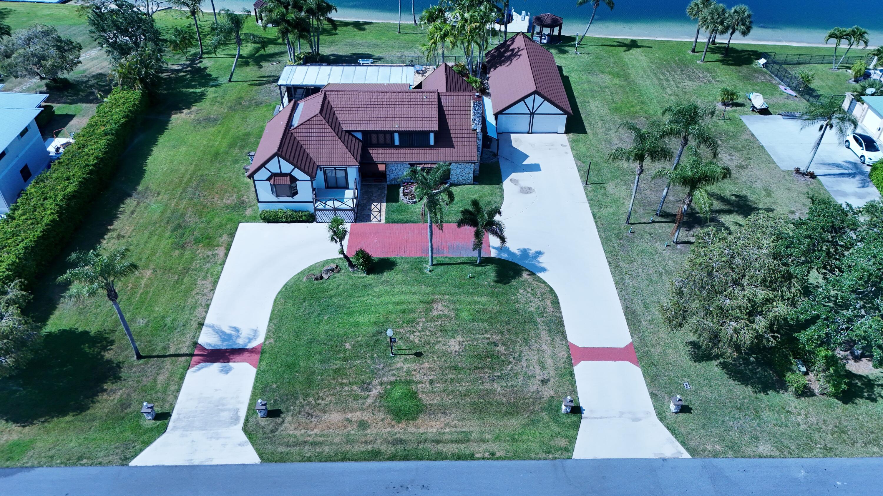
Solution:
[{"label": "large side lawn right of the garage driveway, around the palms", "polygon": [[[683,244],[666,247],[677,201],[669,195],[660,222],[655,214],[665,184],[652,181],[646,168],[630,226],[624,225],[634,181],[634,166],[608,162],[613,147],[628,140],[615,129],[623,120],[645,122],[659,117],[668,104],[713,102],[721,86],[739,94],[759,91],[773,112],[799,110],[804,103],[781,93],[766,71],[751,67],[760,50],[828,53],[805,47],[734,45],[731,57],[713,49],[706,64],[689,53],[690,43],[678,41],[588,40],[583,55],[555,49],[578,103],[570,119],[570,143],[581,176],[592,162],[585,187],[594,221],[608,257],[638,360],[653,397],[657,415],[693,456],[879,456],[883,455],[883,374],[853,375],[844,401],[813,397],[796,399],[778,378],[749,359],[709,361],[691,348],[691,335],[668,330],[659,305],[668,297],[668,282],[690,249],[693,229],[700,225],[736,225],[754,212],[803,214],[809,195],[828,193],[818,182],[797,180],[780,170],[740,119],[713,121],[721,139],[719,160],[733,177],[712,191],[711,222],[696,214],[687,218]],[[730,111],[747,114],[746,107]],[[734,116],[735,117],[735,116]],[[684,391],[683,381],[691,390]],[[668,412],[668,396],[681,393],[690,415]]]}]

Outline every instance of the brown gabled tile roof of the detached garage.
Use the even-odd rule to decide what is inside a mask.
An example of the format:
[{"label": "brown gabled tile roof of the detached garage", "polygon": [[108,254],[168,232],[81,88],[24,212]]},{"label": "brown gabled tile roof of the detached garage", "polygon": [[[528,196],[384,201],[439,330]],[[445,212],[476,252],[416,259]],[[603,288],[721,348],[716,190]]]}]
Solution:
[{"label": "brown gabled tile roof of the detached garage", "polygon": [[533,93],[573,115],[555,56],[524,33],[487,52],[487,73],[494,116]]}]

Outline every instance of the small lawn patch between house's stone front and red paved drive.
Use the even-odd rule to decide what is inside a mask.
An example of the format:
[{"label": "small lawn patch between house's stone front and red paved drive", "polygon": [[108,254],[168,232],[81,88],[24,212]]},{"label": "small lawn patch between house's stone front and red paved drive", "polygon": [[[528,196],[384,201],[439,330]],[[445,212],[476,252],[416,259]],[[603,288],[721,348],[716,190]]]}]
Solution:
[{"label": "small lawn patch between house's stone front and red paved drive", "polygon": [[[398,184],[387,186],[386,222],[420,222],[420,204],[408,205],[398,196]],[[472,199],[478,199],[483,207],[502,207],[502,176],[500,162],[483,163],[479,169],[479,184],[461,184],[451,187],[454,202],[445,212],[445,222],[457,222],[460,211],[469,207]]]}]

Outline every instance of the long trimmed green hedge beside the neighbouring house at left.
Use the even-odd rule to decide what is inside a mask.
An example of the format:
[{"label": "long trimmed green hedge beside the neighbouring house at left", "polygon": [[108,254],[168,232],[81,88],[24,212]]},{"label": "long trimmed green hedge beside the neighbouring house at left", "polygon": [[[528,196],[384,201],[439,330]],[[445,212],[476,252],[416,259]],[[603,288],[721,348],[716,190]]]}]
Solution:
[{"label": "long trimmed green hedge beside the neighbouring house at left", "polygon": [[147,96],[114,89],[77,133],[76,142],[26,188],[0,222],[0,283],[31,286],[64,249],[92,202],[117,171]]}]

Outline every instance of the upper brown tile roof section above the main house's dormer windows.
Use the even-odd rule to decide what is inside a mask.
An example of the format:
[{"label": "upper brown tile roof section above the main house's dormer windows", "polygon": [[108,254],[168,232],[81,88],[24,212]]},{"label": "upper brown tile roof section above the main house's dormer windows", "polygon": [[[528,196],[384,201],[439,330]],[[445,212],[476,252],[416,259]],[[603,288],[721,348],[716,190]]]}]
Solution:
[{"label": "upper brown tile roof section above the main house's dormer windows", "polygon": [[438,131],[438,92],[325,91],[347,131]]}]

